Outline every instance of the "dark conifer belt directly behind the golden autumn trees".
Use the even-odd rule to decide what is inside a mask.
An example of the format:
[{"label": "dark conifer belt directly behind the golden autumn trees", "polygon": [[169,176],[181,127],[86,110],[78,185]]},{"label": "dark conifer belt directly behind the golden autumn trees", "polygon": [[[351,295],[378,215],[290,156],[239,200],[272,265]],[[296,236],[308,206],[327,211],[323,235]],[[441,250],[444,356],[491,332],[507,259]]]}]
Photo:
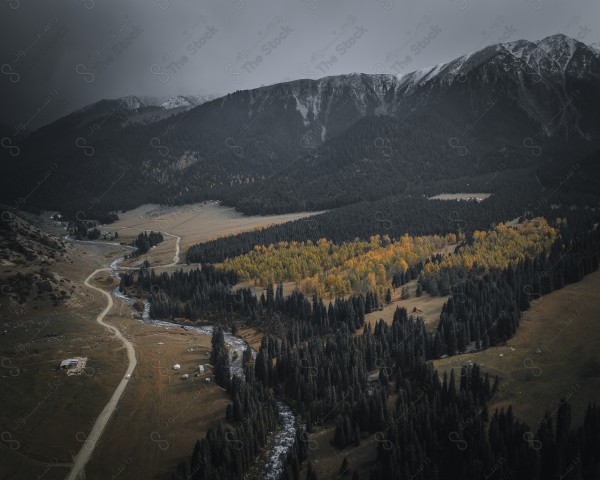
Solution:
[{"label": "dark conifer belt directly behind the golden autumn trees", "polygon": [[[485,190],[484,185],[482,189]],[[519,216],[543,216],[549,220],[566,218],[575,230],[590,229],[600,220],[600,212],[589,209],[598,205],[598,198],[590,198],[589,193],[582,198],[579,194],[559,190],[556,196],[561,198],[560,201],[558,198],[548,200],[544,195],[547,192],[540,192],[539,186],[534,188],[528,181],[518,178],[481,203],[428,200],[411,192],[410,195],[363,201],[293,222],[192,245],[186,259],[189,263],[218,263],[248,253],[255,245],[290,239],[316,242],[327,238],[341,243],[357,237],[367,240],[376,234],[398,238],[406,232],[445,235],[462,231],[470,235],[475,230],[488,230],[499,222]],[[589,203],[583,203],[585,201]],[[576,208],[571,209],[571,206]]]}]

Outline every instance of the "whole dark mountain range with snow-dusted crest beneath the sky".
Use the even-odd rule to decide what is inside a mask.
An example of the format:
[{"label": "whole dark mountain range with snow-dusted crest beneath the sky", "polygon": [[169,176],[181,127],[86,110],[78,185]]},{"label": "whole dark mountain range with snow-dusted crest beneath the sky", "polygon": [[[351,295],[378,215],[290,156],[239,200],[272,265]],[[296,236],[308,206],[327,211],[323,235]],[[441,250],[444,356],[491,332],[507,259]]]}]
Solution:
[{"label": "whole dark mountain range with snow-dusted crest beneath the sky", "polygon": [[600,51],[558,34],[406,75],[102,100],[3,141],[0,200],[88,217],[203,199],[248,213],[328,209],[415,185],[500,189],[482,179],[558,171],[598,150],[599,134]]}]

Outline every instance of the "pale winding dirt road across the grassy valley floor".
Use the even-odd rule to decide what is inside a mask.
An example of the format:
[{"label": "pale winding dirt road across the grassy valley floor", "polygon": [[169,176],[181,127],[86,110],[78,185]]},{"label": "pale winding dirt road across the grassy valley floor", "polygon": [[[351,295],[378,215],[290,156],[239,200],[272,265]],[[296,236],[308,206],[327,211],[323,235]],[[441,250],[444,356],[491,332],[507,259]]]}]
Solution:
[{"label": "pale winding dirt road across the grassy valley floor", "polygon": [[[175,237],[175,235],[171,236]],[[173,262],[168,265],[161,265],[162,267],[172,267],[179,262],[180,241],[181,237],[177,237],[177,241],[175,244],[175,256],[173,257]],[[92,427],[92,430],[90,431],[89,435],[86,437],[85,443],[79,450],[79,453],[73,459],[73,466],[71,467],[69,475],[66,477],[67,480],[77,480],[85,478],[83,474],[83,469],[92,457],[92,453],[94,452],[94,449],[96,448],[96,445],[98,444],[98,441],[100,440],[100,437],[102,436],[102,433],[104,432],[104,429],[106,428],[110,417],[114,413],[115,408],[117,408],[117,404],[119,403],[119,400],[121,399],[121,396],[123,395],[123,392],[125,391],[127,383],[129,381],[127,377],[133,373],[137,365],[135,349],[133,348],[132,343],[123,336],[123,334],[117,327],[109,325],[104,321],[104,317],[108,312],[110,312],[110,310],[113,307],[112,295],[109,292],[102,290],[101,288],[98,288],[90,283],[90,280],[94,278],[99,272],[107,272],[110,270],[110,268],[99,268],[97,270],[94,270],[92,273],[90,273],[90,275],[85,279],[83,283],[86,287],[97,290],[106,297],[108,304],[106,305],[104,310],[102,310],[102,312],[96,317],[96,321],[103,327],[109,329],[112,333],[115,334],[115,336],[119,340],[123,342],[123,345],[125,345],[125,348],[127,349],[127,358],[129,360],[129,365],[127,367],[127,371],[125,372],[125,376],[115,389],[114,393],[112,394],[112,397],[110,397],[110,400],[108,401],[100,415],[98,415],[98,418],[96,418],[96,422],[94,423],[94,426]]]}]

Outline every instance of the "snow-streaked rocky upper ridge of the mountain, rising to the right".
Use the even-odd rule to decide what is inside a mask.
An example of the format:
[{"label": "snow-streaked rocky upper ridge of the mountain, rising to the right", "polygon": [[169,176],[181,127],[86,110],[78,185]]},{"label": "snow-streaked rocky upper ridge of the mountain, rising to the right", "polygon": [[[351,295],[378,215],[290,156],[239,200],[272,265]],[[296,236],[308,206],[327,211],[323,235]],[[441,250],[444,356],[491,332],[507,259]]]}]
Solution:
[{"label": "snow-streaked rocky upper ridge of the mountain, rising to the right", "polygon": [[[477,94],[472,96],[476,108],[486,102],[495,104],[498,101],[495,91],[510,91],[505,100],[510,97],[517,101],[529,117],[541,122],[555,108],[554,100],[559,110],[568,101],[560,94],[567,91],[566,78],[590,79],[595,76],[598,76],[596,51],[559,34],[535,42],[517,40],[489,45],[449,62],[404,75],[350,73],[315,80],[293,80],[250,90],[245,98],[249,118],[255,118],[267,109],[272,111],[272,105],[281,102],[283,110],[297,112],[302,125],[309,130],[308,137],[322,142],[335,135],[341,111],[345,112],[346,118],[356,116],[355,120],[370,115],[406,116],[411,109],[436,101],[448,92],[464,96],[476,91]],[[534,106],[535,102],[531,101],[532,95],[539,90],[540,79],[546,86],[554,85],[552,95],[560,97],[550,100],[545,94],[543,101],[540,98],[540,103],[550,105],[546,105],[547,108]],[[223,102],[227,102],[227,98]],[[569,123],[570,117],[566,117],[574,114],[571,110],[571,107],[564,108],[565,120],[555,121],[552,126]],[[550,117],[552,115],[555,113]],[[570,124],[575,123],[573,120]]]}]

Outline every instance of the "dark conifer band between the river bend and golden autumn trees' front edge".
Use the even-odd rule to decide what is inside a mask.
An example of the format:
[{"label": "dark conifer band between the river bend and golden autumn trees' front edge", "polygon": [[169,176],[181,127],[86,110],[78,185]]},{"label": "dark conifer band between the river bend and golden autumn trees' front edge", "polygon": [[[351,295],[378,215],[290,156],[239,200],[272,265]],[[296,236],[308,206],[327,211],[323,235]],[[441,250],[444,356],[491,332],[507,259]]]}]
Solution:
[{"label": "dark conifer band between the river bend and golden autumn trees' front edge", "polygon": [[212,265],[170,274],[156,274],[142,267],[121,275],[120,290],[134,296],[147,296],[152,318],[192,321],[210,318],[229,326],[227,316],[233,315],[248,325],[281,335],[293,325],[289,332],[295,342],[329,334],[341,325],[355,331],[364,324],[365,314],[379,309],[381,304],[378,296],[368,291],[365,295],[336,298],[325,305],[317,296],[310,300],[297,290],[285,297],[282,285],[268,285],[266,295],[261,293],[257,297],[249,288],[232,290],[237,280],[234,271],[223,271]]}]

